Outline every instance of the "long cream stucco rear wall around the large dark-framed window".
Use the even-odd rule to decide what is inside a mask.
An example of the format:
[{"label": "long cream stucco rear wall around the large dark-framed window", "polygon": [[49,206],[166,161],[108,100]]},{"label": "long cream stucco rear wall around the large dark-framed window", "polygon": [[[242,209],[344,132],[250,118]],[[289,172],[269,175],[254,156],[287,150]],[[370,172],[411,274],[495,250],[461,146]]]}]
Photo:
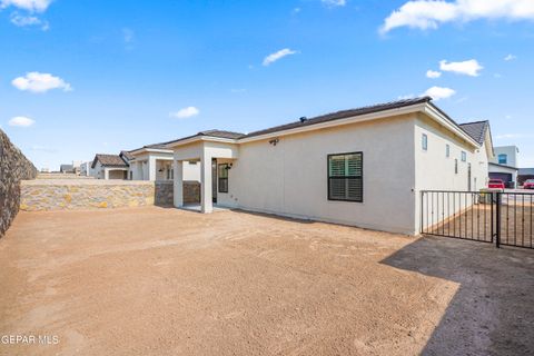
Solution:
[{"label": "long cream stucco rear wall around the large dark-framed window", "polygon": [[[397,117],[239,145],[228,194],[248,210],[414,234],[415,117]],[[364,154],[364,202],[327,198],[327,156]],[[225,160],[218,160],[222,162]]]}]

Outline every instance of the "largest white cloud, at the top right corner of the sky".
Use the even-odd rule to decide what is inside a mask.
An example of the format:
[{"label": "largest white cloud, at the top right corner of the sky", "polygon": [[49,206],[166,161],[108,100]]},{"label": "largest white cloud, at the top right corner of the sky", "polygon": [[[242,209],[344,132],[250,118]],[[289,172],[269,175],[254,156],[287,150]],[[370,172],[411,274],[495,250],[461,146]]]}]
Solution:
[{"label": "largest white cloud, at the top right corner of the sky", "polygon": [[409,27],[437,29],[446,22],[468,22],[476,19],[534,20],[532,0],[413,0],[393,11],[380,27],[380,33]]}]

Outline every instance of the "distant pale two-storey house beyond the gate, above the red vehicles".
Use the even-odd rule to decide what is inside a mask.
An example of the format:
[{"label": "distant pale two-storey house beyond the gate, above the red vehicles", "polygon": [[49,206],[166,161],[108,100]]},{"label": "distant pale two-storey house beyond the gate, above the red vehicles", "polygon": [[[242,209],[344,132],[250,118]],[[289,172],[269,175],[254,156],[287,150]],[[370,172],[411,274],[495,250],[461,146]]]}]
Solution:
[{"label": "distant pale two-storey house beyond the gate, above the red vehicles", "polygon": [[516,146],[497,146],[494,151],[495,157],[490,161],[490,178],[501,179],[507,188],[515,188],[520,149]]}]

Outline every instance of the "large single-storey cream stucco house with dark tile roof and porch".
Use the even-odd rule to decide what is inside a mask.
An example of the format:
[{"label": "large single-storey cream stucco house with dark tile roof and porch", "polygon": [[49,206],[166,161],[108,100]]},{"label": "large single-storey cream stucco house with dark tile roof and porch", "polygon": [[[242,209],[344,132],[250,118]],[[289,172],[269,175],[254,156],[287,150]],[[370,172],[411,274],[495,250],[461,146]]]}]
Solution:
[{"label": "large single-storey cream stucco house with dark tile roof and porch", "polygon": [[200,166],[202,212],[230,208],[416,235],[421,191],[486,186],[487,121],[458,125],[428,97],[337,111],[248,135],[167,142],[175,206],[184,165]]}]

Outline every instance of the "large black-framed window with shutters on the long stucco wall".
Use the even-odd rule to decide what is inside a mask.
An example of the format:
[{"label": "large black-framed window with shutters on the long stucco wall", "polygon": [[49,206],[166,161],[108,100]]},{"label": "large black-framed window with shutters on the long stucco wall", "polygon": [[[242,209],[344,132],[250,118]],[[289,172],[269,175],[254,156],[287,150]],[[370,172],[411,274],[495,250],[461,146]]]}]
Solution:
[{"label": "large black-framed window with shutters on the long stucco wall", "polygon": [[364,201],[364,154],[328,155],[328,200]]}]

